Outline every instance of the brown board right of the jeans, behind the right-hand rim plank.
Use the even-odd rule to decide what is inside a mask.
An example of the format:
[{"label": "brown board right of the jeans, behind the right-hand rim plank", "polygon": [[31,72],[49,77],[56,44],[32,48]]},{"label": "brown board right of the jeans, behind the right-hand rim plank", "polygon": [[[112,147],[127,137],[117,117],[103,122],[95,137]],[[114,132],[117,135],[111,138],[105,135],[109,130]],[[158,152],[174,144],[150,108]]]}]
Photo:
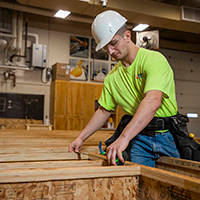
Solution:
[{"label": "brown board right of the jeans, behind the right-hand rim plank", "polygon": [[156,168],[200,179],[200,162],[161,157],[156,161]]}]

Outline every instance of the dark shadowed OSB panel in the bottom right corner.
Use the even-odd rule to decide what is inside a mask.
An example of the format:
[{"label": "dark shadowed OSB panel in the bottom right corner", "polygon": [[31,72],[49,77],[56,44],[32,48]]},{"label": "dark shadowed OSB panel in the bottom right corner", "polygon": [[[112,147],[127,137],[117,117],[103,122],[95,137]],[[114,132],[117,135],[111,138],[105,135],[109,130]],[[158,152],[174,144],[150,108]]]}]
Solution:
[{"label": "dark shadowed OSB panel in the bottom right corner", "polygon": [[199,200],[200,194],[145,176],[139,179],[139,199],[141,200]]}]

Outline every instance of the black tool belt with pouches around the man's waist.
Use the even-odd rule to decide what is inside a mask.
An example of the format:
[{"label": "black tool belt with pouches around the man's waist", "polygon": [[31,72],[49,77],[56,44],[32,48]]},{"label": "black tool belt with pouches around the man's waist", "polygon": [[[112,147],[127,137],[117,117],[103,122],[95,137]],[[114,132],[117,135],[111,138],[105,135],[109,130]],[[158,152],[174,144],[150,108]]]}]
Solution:
[{"label": "black tool belt with pouches around the man's waist", "polygon": [[[108,140],[105,141],[106,146],[109,146],[121,135],[126,125],[133,117],[124,115],[115,131],[115,133]],[[189,137],[187,123],[189,119],[187,116],[177,113],[171,117],[154,117],[151,122],[140,132],[142,135],[155,136],[156,130],[169,130],[176,143],[177,149],[181,158],[200,161],[200,144]],[[130,145],[127,149],[130,148]],[[126,149],[126,150],[127,150]]]}]

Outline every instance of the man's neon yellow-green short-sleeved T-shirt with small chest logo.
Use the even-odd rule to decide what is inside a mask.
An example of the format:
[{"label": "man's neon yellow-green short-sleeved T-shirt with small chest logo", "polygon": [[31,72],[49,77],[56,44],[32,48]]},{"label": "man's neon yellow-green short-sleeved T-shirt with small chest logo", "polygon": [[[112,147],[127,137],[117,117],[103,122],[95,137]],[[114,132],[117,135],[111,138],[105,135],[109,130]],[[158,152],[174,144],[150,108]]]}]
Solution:
[{"label": "man's neon yellow-green short-sleeved T-shirt with small chest logo", "polygon": [[119,62],[109,72],[98,102],[107,110],[115,110],[120,105],[126,114],[133,116],[150,90],[163,92],[156,117],[177,114],[174,75],[168,61],[159,52],[140,48],[128,68]]}]

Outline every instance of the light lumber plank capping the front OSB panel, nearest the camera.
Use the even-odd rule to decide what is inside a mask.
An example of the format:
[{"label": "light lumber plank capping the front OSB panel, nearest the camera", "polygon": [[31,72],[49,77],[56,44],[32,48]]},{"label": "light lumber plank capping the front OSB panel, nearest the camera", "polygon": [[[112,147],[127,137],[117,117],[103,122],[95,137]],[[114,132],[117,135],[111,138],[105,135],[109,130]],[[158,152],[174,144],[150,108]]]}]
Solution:
[{"label": "light lumber plank capping the front OSB panel, nearest the camera", "polygon": [[0,183],[38,182],[82,178],[140,175],[140,166],[73,167],[56,169],[0,170]]}]

